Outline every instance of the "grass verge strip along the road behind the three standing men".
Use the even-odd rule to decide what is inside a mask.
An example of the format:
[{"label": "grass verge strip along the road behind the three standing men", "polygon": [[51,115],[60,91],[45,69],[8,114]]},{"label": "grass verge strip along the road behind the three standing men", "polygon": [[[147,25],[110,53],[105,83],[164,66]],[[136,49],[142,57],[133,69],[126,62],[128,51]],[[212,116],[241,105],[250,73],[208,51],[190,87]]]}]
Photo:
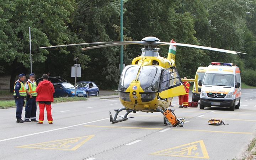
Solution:
[{"label": "grass verge strip along the road behind the three standing men", "polygon": [[[60,103],[60,102],[73,102],[73,101],[86,101],[86,97],[58,97],[58,98],[54,98],[54,102],[52,103]],[[38,102],[37,102],[38,104]],[[15,107],[15,101],[11,100],[11,101],[0,101],[0,107],[1,108],[8,108],[8,107]]]}]

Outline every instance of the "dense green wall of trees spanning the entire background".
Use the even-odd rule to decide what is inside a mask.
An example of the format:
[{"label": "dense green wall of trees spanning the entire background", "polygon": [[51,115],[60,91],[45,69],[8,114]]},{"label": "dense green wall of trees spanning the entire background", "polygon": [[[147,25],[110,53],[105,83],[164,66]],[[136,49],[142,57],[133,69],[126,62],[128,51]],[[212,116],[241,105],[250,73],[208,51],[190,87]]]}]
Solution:
[{"label": "dense green wall of trees spanning the entire background", "polygon": [[[163,42],[174,39],[177,43],[249,53],[233,55],[177,46],[175,63],[181,77],[193,78],[198,66],[230,62],[239,66],[241,77],[251,84],[248,71],[254,76],[256,69],[255,9],[255,0],[123,0],[123,41],[155,36]],[[117,89],[119,46],[93,50],[81,50],[88,45],[36,47],[120,41],[119,26],[120,0],[2,0],[0,74],[12,74],[13,85],[16,74],[30,72],[28,27],[31,27],[36,79],[50,72],[74,83],[70,67],[78,57],[77,64],[82,67],[78,81],[94,81],[100,89]],[[130,64],[141,54],[142,47],[124,46],[124,63]],[[159,48],[160,55],[167,57],[169,46]]]}]

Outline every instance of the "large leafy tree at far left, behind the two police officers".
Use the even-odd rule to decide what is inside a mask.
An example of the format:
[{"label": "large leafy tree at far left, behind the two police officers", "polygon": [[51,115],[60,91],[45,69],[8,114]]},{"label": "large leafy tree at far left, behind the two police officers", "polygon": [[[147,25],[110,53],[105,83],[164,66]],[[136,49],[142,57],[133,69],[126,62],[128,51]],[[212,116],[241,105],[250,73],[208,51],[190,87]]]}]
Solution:
[{"label": "large leafy tree at far left, behind the two police officers", "polygon": [[[30,67],[28,27],[31,27],[33,63],[44,62],[49,52],[35,48],[69,42],[72,35],[66,24],[70,22],[75,3],[73,0],[3,0],[0,6],[0,58],[12,66],[12,92],[17,72],[24,73]],[[68,53],[64,49],[59,52]]]}]

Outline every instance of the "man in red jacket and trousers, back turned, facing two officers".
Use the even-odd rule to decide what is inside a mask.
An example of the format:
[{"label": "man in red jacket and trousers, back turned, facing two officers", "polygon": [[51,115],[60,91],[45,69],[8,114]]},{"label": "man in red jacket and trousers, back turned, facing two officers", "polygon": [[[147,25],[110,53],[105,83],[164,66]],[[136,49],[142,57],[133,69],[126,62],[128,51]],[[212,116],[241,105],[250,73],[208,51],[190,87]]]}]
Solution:
[{"label": "man in red jacket and trousers, back turned, facing two officers", "polygon": [[39,124],[43,124],[44,120],[44,106],[46,107],[47,112],[47,120],[49,124],[52,124],[52,105],[51,102],[53,102],[53,93],[54,93],[54,87],[53,84],[48,81],[48,75],[43,75],[43,81],[39,82],[36,92],[37,97],[36,101],[39,104]]}]

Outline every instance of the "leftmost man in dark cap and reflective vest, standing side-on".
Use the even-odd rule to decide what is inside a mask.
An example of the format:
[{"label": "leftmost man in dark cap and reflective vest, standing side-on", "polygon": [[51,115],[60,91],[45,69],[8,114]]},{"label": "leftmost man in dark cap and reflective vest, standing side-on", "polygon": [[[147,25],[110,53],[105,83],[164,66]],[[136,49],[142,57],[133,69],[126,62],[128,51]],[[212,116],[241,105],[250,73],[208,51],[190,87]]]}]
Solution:
[{"label": "leftmost man in dark cap and reflective vest, standing side-on", "polygon": [[[17,123],[23,123],[21,119],[22,107],[24,106],[24,98],[26,97],[26,88],[23,81],[26,80],[25,74],[20,74],[19,79],[14,84],[14,99],[16,104]],[[23,103],[24,102],[24,103]]]}]

